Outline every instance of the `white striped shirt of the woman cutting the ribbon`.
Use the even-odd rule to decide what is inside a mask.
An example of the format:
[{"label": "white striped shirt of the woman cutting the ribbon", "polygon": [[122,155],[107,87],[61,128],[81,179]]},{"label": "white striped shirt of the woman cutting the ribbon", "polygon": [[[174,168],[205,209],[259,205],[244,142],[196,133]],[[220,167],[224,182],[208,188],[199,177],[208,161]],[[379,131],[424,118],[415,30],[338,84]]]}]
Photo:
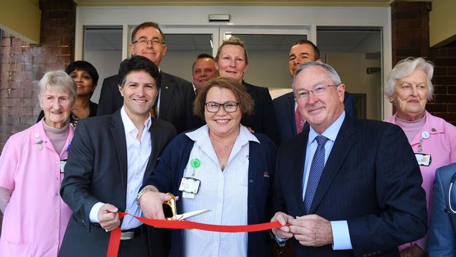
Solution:
[{"label": "white striped shirt of the woman cutting the ribbon", "polygon": [[[210,209],[188,220],[217,225],[246,225],[248,193],[249,141],[260,143],[245,126],[233,145],[224,171],[220,169],[217,154],[210,143],[208,126],[186,133],[195,141],[184,176],[201,180],[194,199],[183,198],[183,212]],[[194,169],[190,162],[199,159],[201,165]],[[183,233],[185,256],[247,256],[247,233],[209,232],[185,230]]]}]

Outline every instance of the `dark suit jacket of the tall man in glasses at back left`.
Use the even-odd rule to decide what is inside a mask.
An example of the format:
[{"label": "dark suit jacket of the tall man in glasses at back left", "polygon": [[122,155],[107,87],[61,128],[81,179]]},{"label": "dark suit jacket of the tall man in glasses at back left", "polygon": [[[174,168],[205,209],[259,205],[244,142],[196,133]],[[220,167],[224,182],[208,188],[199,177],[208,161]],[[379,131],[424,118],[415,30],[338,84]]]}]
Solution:
[{"label": "dark suit jacket of the tall man in glasses at back left", "polygon": [[[97,115],[112,114],[123,105],[119,92],[119,75],[107,77],[98,101]],[[175,126],[177,133],[192,129],[192,103],[195,98],[192,83],[161,72],[159,119]]]}]

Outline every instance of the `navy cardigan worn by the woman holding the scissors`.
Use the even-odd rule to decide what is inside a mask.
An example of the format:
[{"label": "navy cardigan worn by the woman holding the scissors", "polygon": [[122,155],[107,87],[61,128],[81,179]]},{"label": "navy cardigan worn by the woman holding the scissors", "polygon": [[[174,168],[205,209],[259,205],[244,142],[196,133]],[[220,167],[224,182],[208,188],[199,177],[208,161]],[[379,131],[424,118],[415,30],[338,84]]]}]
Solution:
[{"label": "navy cardigan worn by the woman holding the scissors", "polygon": [[[250,225],[266,223],[270,220],[270,184],[274,178],[276,158],[276,145],[267,136],[259,133],[254,135],[260,140],[260,143],[249,143],[248,180],[251,182],[248,185],[247,222]],[[182,197],[179,186],[193,147],[194,141],[185,133],[177,136],[163,151],[159,164],[144,185],[154,185],[160,192],[172,192],[173,195]],[[264,173],[268,175],[264,176]],[[177,201],[176,205],[177,210],[182,210],[182,201]],[[170,257],[184,256],[185,246],[182,242],[182,230],[173,230],[172,233],[173,247],[170,251]],[[247,256],[270,256],[270,242],[267,231],[249,232]]]}]

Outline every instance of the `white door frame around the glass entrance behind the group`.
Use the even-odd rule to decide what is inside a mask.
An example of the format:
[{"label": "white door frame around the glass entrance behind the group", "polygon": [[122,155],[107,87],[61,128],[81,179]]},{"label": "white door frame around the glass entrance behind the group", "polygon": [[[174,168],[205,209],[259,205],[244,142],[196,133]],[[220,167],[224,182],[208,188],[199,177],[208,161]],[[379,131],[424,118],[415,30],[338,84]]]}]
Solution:
[{"label": "white door frame around the glass entrance behind the group", "polygon": [[[210,14],[229,14],[229,22],[210,22]],[[145,21],[158,22],[163,32],[182,26],[264,26],[309,29],[308,39],[317,44],[317,26],[382,27],[382,82],[391,71],[391,8],[354,6],[78,6],[74,56],[82,58],[83,27],[123,26],[122,56],[128,56],[129,27]],[[176,30],[177,31],[177,30]],[[188,31],[186,32],[188,33]],[[218,45],[218,44],[217,44]],[[214,44],[214,46],[217,46]],[[318,45],[318,44],[317,44]],[[383,97],[383,116],[392,114],[392,105]]]}]

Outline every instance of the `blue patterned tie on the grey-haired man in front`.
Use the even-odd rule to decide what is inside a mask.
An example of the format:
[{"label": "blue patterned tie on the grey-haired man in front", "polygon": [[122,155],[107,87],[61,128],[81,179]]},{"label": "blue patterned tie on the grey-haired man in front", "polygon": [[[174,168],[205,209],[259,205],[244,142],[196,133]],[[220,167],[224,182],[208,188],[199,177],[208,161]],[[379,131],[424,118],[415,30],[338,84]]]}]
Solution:
[{"label": "blue patterned tie on the grey-haired man in front", "polygon": [[328,138],[318,135],[315,138],[318,146],[314,154],[314,159],[310,164],[309,179],[307,180],[306,194],[304,195],[304,209],[309,213],[312,200],[314,199],[318,181],[320,181],[321,173],[325,168],[325,144]]}]

